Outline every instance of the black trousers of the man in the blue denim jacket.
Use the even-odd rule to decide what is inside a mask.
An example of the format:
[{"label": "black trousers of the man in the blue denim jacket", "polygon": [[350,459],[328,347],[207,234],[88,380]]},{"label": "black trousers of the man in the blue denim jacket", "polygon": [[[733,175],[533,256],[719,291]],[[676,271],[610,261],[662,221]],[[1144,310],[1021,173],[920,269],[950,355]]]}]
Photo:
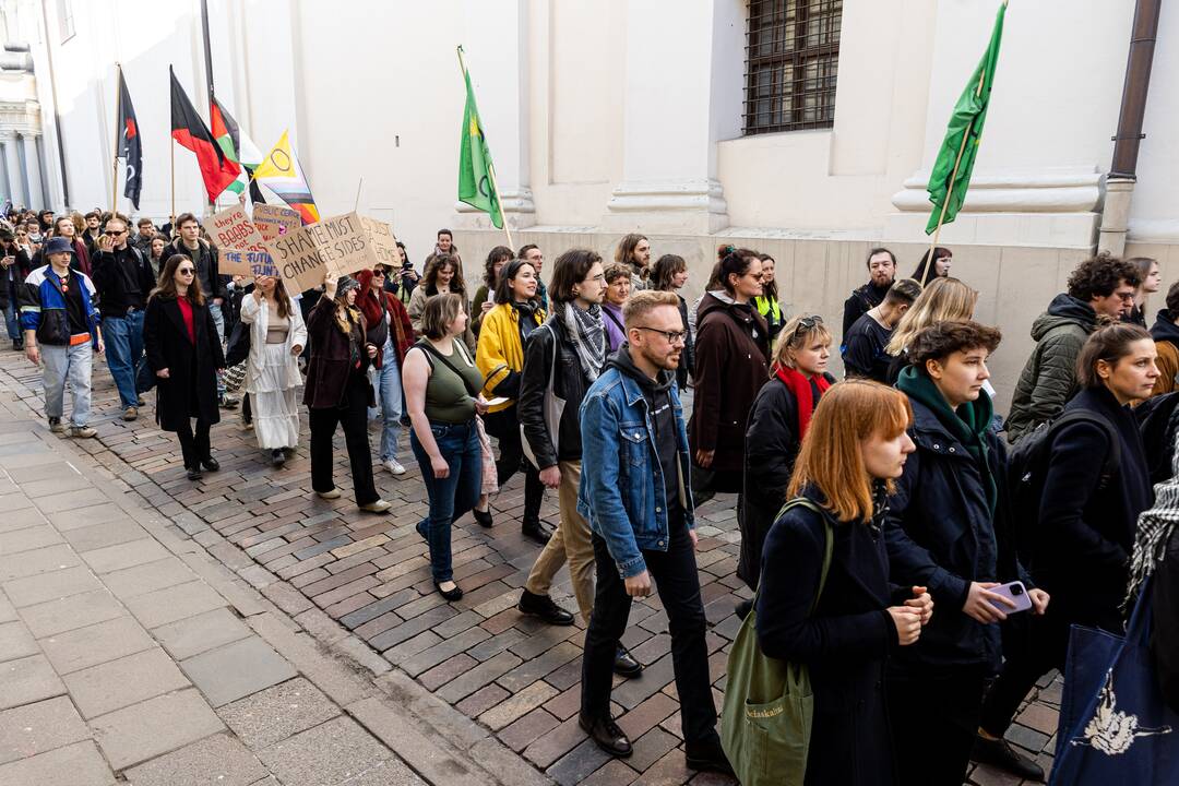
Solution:
[{"label": "black trousers of the man in the blue denim jacket", "polygon": [[[643,551],[643,559],[667,612],[684,741],[694,746],[714,741],[717,734],[717,706],[712,701],[709,647],[704,640],[704,603],[700,600],[696,550],[683,522],[672,528],[667,546],[667,551]],[[626,594],[618,566],[606,549],[606,541],[598,535],[593,536],[593,553],[598,589],[581,661],[581,713],[598,719],[610,716],[614,658],[618,642],[626,632],[631,596]]]}]

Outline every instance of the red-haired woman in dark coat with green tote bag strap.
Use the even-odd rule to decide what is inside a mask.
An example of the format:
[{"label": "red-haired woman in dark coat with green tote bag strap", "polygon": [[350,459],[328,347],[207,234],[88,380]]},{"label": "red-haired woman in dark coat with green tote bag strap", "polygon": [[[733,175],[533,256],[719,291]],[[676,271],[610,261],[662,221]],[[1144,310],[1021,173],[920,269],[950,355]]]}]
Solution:
[{"label": "red-haired woman in dark coat with green tote bag strap", "polygon": [[790,495],[808,502],[786,510],[765,540],[757,640],[765,655],[809,668],[808,786],[896,782],[884,668],[933,614],[923,588],[889,581],[881,535],[885,496],[913,451],[909,416],[890,388],[867,379],[834,385],[815,410],[790,482]]}]

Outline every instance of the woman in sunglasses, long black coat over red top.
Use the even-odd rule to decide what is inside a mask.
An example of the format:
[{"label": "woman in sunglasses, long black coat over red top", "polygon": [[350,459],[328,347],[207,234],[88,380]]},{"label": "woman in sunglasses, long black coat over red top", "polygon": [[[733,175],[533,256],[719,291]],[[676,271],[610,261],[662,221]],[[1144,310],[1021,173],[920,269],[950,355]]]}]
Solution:
[{"label": "woman in sunglasses, long black coat over red top", "polygon": [[156,422],[176,431],[189,480],[200,480],[202,469],[220,469],[209,429],[220,420],[217,369],[225,366],[225,356],[187,257],[172,255],[164,265],[144,311],[144,350],[156,375]]}]

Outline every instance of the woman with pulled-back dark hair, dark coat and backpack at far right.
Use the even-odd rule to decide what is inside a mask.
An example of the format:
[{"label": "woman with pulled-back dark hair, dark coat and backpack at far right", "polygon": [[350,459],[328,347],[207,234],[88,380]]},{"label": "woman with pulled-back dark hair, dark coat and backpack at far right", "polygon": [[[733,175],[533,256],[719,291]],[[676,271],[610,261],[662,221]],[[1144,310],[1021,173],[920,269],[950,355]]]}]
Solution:
[{"label": "woman with pulled-back dark hair, dark coat and backpack at far right", "polygon": [[[1081,411],[1085,420],[1062,424],[1052,437],[1028,564],[1052,603],[1017,648],[1005,649],[980,725],[994,740],[1002,740],[1032,686],[1053,668],[1063,671],[1073,625],[1122,632],[1138,517],[1154,501],[1129,404],[1150,397],[1159,376],[1155,357],[1150,333],[1121,323],[1094,331],[1076,359],[1081,391],[1063,414]],[[1118,468],[1101,477],[1111,435]]]}]

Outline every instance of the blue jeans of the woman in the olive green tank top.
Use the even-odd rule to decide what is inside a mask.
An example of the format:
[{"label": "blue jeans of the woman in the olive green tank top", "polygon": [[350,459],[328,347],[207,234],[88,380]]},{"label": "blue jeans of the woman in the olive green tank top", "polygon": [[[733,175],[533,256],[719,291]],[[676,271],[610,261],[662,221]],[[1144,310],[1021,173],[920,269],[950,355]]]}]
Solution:
[{"label": "blue jeans of the woman in the olive green tank top", "polygon": [[409,431],[409,447],[414,450],[417,465],[422,469],[422,481],[430,500],[429,515],[417,523],[417,533],[430,546],[430,572],[434,581],[450,581],[450,527],[479,501],[483,483],[483,454],[479,444],[475,420],[450,424],[430,422],[430,432],[439,453],[450,467],[446,477],[434,477],[430,457],[426,454],[417,435]]}]

